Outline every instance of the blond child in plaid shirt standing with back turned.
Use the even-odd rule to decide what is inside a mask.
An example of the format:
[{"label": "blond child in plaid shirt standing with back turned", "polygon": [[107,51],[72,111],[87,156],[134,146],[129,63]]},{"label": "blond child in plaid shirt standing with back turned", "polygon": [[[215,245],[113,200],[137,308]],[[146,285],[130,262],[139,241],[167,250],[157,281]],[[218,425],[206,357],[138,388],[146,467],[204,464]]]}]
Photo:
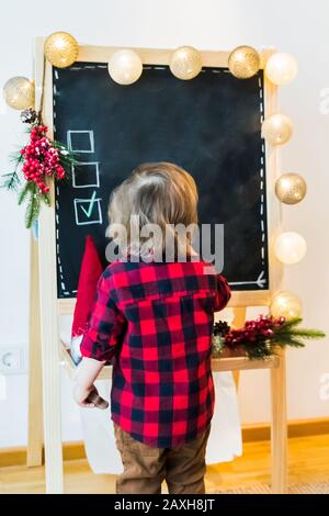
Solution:
[{"label": "blond child in plaid shirt standing with back turned", "polygon": [[[197,223],[196,205],[193,178],[167,162],[139,166],[110,201],[111,226],[126,229],[115,236],[125,258],[112,262],[99,281],[75,400],[94,406],[93,382],[113,363],[121,494],[161,493],[164,479],[169,493],[205,492],[214,312],[225,307],[230,291],[193,251],[190,234],[184,238],[174,229]],[[149,224],[159,228],[151,236],[145,232]],[[168,250],[167,229],[174,242],[170,261],[159,259]]]}]

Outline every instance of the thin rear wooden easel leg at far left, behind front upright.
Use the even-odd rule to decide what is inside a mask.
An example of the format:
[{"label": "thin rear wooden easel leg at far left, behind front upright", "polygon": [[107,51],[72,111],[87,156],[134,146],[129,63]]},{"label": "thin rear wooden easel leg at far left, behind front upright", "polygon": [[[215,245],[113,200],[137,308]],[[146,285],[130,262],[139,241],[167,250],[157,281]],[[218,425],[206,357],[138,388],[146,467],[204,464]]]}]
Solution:
[{"label": "thin rear wooden easel leg at far left, behind front upright", "polygon": [[31,283],[30,283],[30,371],[29,371],[29,438],[26,465],[43,463],[43,396],[41,328],[38,302],[37,242],[31,231]]}]

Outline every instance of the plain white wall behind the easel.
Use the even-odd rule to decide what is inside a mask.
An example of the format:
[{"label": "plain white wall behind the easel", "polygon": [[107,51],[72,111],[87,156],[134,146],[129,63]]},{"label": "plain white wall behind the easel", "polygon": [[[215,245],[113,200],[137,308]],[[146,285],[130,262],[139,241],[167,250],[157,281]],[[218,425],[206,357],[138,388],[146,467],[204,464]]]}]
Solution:
[{"label": "plain white wall behind the easel", "polygon": [[[286,269],[284,287],[304,303],[305,324],[329,334],[328,128],[320,114],[320,91],[329,87],[329,4],[327,0],[57,0],[48,9],[42,0],[11,0],[1,9],[0,85],[15,75],[29,76],[32,38],[56,30],[71,32],[79,42],[172,47],[191,44],[202,49],[230,49],[247,43],[293,53],[299,63],[297,80],[282,89],[282,110],[295,123],[295,136],[282,152],[283,170],[300,172],[308,195],[284,207],[284,227],[300,232],[308,244],[300,265]],[[8,154],[22,141],[18,112],[0,105],[0,170]],[[1,300],[0,346],[27,344],[29,233],[15,199],[0,192]],[[288,414],[291,418],[327,416],[329,401],[319,396],[320,377],[329,372],[328,339],[288,352]],[[26,441],[26,377],[8,377],[8,397],[0,401],[0,447]],[[65,439],[80,438],[69,382],[63,382]],[[265,373],[246,372],[240,384],[243,422],[268,419]]]}]

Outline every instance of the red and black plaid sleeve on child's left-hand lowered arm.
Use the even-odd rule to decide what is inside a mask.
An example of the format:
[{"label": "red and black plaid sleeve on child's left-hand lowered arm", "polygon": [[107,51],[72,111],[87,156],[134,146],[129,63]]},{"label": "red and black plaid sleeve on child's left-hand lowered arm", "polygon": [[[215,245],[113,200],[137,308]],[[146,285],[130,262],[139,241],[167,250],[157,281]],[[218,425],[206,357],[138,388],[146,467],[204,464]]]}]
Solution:
[{"label": "red and black plaid sleeve on child's left-hand lowered arm", "polygon": [[111,362],[118,351],[126,330],[126,319],[111,296],[109,279],[101,277],[89,321],[81,343],[82,357]]}]

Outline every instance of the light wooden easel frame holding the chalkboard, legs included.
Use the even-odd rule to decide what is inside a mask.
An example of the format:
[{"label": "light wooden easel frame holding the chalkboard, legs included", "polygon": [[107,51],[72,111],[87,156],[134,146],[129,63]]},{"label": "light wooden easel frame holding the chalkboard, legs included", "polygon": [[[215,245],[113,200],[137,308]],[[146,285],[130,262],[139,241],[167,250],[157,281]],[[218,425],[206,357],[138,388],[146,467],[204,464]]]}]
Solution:
[{"label": "light wooden easel frame holding the chalkboard, legs included", "polygon": [[[78,61],[106,63],[114,47],[80,46]],[[144,64],[168,65],[172,51],[136,48]],[[273,51],[269,51],[273,52]],[[262,53],[266,57],[268,51]],[[202,52],[203,66],[227,67],[228,52]],[[44,38],[35,42],[35,85],[36,105],[39,103],[44,71]],[[265,113],[277,109],[276,87],[265,80]],[[46,63],[43,119],[53,136],[53,77],[52,66]],[[279,288],[282,268],[275,260],[272,243],[280,231],[280,203],[273,194],[274,182],[279,176],[277,150],[266,148],[266,188],[268,188],[268,228],[270,285],[266,291],[234,292],[229,306],[235,310],[235,323],[243,324],[247,306],[268,306],[271,293]],[[63,449],[60,428],[60,354],[69,371],[73,363],[59,343],[58,316],[72,314],[75,300],[57,300],[56,282],[56,242],[54,184],[50,187],[52,207],[44,207],[39,216],[38,257],[36,243],[32,242],[31,277],[31,371],[30,371],[30,431],[27,465],[38,465],[42,461],[42,435],[44,434],[46,492],[63,493]],[[37,276],[38,269],[38,276]],[[39,282],[37,281],[39,278]],[[52,278],[53,281],[45,279]],[[39,283],[39,284],[38,284]],[[38,295],[37,292],[38,291]],[[39,315],[36,316],[37,311]],[[38,326],[39,324],[39,326]],[[39,341],[42,360],[39,367]],[[285,359],[279,354],[266,361],[250,361],[246,358],[214,359],[214,371],[240,371],[246,369],[269,369],[271,372],[272,396],[272,490],[274,493],[286,492],[286,400],[285,400]],[[41,374],[42,370],[42,374]],[[111,368],[104,368],[102,378],[110,378]],[[42,375],[42,396],[39,393]],[[43,401],[43,429],[41,401]],[[35,402],[35,403],[34,403]]]}]

